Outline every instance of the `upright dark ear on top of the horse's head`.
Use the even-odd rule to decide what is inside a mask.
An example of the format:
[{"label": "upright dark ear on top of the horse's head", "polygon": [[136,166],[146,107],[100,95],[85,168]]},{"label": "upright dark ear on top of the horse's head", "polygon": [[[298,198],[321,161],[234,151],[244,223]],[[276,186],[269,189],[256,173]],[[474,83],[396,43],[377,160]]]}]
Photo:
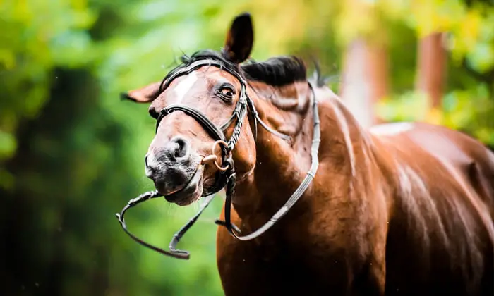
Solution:
[{"label": "upright dark ear on top of the horse's head", "polygon": [[236,16],[227,34],[222,56],[232,63],[241,63],[251,54],[254,32],[250,13]]}]

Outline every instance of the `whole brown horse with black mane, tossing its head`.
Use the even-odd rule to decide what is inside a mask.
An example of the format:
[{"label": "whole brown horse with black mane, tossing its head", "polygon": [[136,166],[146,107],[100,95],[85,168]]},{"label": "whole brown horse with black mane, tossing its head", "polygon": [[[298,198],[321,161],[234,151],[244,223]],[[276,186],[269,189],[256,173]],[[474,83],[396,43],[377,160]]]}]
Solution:
[{"label": "whole brown horse with black mane, tossing its head", "polygon": [[[242,234],[269,221],[302,183],[320,128],[318,171],[286,216],[248,241],[219,226],[225,294],[493,295],[493,153],[426,123],[363,130],[320,77],[306,78],[299,58],[242,63],[252,44],[251,18],[242,14],[221,53],[199,51],[167,82],[127,93],[159,118],[145,159],[157,190],[191,204],[234,164],[231,220]],[[211,152],[217,134],[190,110],[216,126],[231,123],[243,92],[257,111],[249,109],[236,135],[224,125],[235,143]],[[177,105],[186,108],[167,109]],[[233,162],[221,163],[227,152]]]}]

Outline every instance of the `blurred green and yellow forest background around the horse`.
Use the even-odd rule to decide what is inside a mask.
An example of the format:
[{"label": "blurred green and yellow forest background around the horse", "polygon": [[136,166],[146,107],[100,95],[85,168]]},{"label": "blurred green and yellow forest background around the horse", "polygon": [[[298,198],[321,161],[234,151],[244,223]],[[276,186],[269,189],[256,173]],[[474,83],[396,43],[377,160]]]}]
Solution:
[{"label": "blurred green and yellow forest background around the horse", "polygon": [[[119,92],[220,49],[243,11],[254,59],[316,58],[362,125],[428,121],[494,145],[493,1],[1,0],[1,295],[222,295],[221,198],[181,242],[190,261],[140,247],[116,221],[153,189],[155,127]],[[165,247],[197,209],[154,199],[126,221]]]}]

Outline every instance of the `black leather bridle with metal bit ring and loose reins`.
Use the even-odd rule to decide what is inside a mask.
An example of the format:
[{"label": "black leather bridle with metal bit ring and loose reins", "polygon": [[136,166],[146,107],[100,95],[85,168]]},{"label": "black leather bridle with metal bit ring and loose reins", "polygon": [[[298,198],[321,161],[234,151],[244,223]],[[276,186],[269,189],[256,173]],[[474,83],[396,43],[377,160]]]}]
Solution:
[{"label": "black leather bridle with metal bit ring and loose reins", "polygon": [[[174,237],[171,239],[171,242],[169,244],[168,251],[150,245],[147,242],[144,242],[143,240],[137,238],[135,235],[133,235],[127,230],[125,220],[123,219],[123,215],[125,214],[125,212],[128,209],[130,209],[132,206],[135,206],[136,204],[140,204],[141,202],[144,202],[147,199],[162,197],[163,195],[161,193],[157,191],[145,192],[142,195],[136,197],[135,199],[131,199],[126,204],[126,206],[123,207],[120,214],[118,213],[116,214],[116,218],[119,219],[119,222],[123,230],[131,238],[133,238],[133,240],[140,243],[141,245],[144,245],[145,247],[154,249],[155,251],[161,254],[170,257],[175,257],[178,259],[190,258],[190,254],[187,251],[176,249],[176,245],[179,243],[179,241],[186,233],[186,231],[189,228],[191,228],[191,226],[193,226],[195,221],[198,220],[200,214],[203,213],[203,211],[212,201],[213,197],[215,197],[215,193],[219,192],[219,190],[222,190],[225,186],[226,186],[225,189],[226,199],[224,205],[225,219],[224,221],[220,221],[217,219],[215,220],[215,223],[219,226],[224,226],[225,228],[227,228],[228,232],[231,235],[233,235],[234,238],[237,238],[239,240],[253,240],[254,238],[257,238],[258,236],[265,233],[265,231],[271,228],[279,220],[279,218],[282,218],[282,216],[287,214],[291,206],[293,206],[303,195],[303,192],[307,190],[307,187],[308,185],[311,184],[311,181],[313,180],[319,166],[318,150],[320,143],[320,123],[319,123],[318,106],[317,106],[317,100],[315,99],[313,86],[311,82],[308,82],[309,87],[311,88],[313,93],[313,140],[311,145],[311,168],[308,171],[306,178],[304,178],[304,180],[302,181],[301,185],[299,185],[299,187],[295,190],[295,192],[291,195],[291,197],[287,200],[287,202],[270,218],[269,221],[267,221],[263,226],[258,228],[258,230],[253,231],[252,233],[249,233],[248,235],[241,235],[241,230],[237,226],[235,226],[234,223],[231,223],[231,197],[233,197],[233,195],[235,194],[235,183],[236,183],[235,166],[234,166],[234,160],[231,157],[231,151],[235,148],[236,143],[239,140],[241,128],[243,125],[243,120],[246,116],[247,111],[249,111],[254,121],[254,131],[253,131],[254,139],[257,138],[258,123],[260,123],[260,125],[262,125],[263,128],[265,128],[265,130],[272,132],[274,135],[277,135],[278,137],[282,137],[285,140],[289,140],[290,137],[288,135],[284,135],[280,132],[277,132],[276,130],[273,130],[259,118],[258,112],[255,110],[255,106],[252,99],[248,97],[248,95],[246,94],[246,85],[247,85],[246,80],[244,80],[243,77],[237,71],[231,70],[229,67],[224,66],[224,63],[222,63],[221,61],[217,61],[214,59],[200,59],[198,61],[193,61],[193,63],[190,63],[188,66],[181,66],[179,68],[176,68],[174,72],[172,72],[170,75],[167,76],[167,78],[163,80],[162,85],[160,86],[159,89],[160,90],[166,89],[171,83],[171,81],[174,80],[175,78],[181,75],[187,75],[188,73],[191,73],[194,70],[197,70],[198,68],[203,66],[215,66],[222,70],[227,70],[228,73],[233,75],[240,82],[241,87],[240,87],[239,100],[237,101],[234,112],[229,118],[229,120],[218,128],[214,123],[212,123],[212,121],[210,121],[209,118],[207,118],[204,115],[204,113],[198,111],[197,109],[180,104],[172,104],[159,111],[159,116],[157,118],[157,123],[156,123],[156,130],[157,130],[159,127],[159,123],[161,123],[164,116],[167,116],[168,114],[174,111],[182,111],[183,113],[186,113],[186,115],[194,118],[195,121],[198,121],[198,123],[200,123],[200,125],[202,125],[203,128],[209,133],[209,135],[216,141],[212,147],[212,154],[210,156],[205,156],[205,158],[203,159],[203,163],[214,162],[215,166],[217,166],[218,168],[217,173],[215,175],[215,184],[212,185],[212,187],[205,188],[203,191],[202,197],[205,197],[205,202],[203,203],[203,206],[198,211],[198,213],[195,214],[195,216],[193,216],[177,233],[175,233]],[[229,140],[227,140],[227,138],[224,135],[224,130],[226,130],[231,125],[231,123],[234,122],[235,122],[234,130]],[[217,156],[215,155],[216,147],[219,147],[222,152],[221,165],[218,164]]]}]

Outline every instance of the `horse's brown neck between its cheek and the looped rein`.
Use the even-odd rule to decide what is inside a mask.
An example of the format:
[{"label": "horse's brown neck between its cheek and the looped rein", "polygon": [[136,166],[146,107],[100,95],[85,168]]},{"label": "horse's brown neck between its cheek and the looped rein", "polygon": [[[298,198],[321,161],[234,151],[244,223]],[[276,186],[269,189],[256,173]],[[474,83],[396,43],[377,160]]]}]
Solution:
[{"label": "horse's brown neck between its cheek and the looped rein", "polygon": [[284,87],[251,83],[260,118],[291,137],[283,140],[258,125],[255,167],[237,182],[233,203],[243,220],[269,218],[300,185],[311,166],[313,95],[308,82]]}]

